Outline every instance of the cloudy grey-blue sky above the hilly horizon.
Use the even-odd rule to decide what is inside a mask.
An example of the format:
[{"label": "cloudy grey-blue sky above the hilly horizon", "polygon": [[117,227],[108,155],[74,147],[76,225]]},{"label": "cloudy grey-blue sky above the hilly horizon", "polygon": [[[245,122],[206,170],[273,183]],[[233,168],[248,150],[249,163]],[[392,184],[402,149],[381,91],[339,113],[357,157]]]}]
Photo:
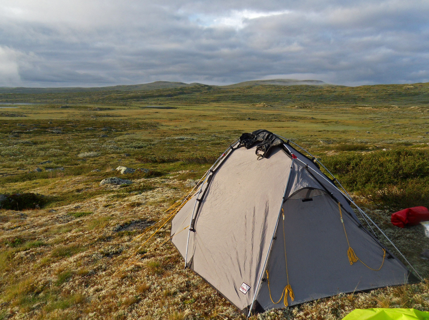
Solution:
[{"label": "cloudy grey-blue sky above the hilly horizon", "polygon": [[1,0],[0,86],[429,82],[429,0]]}]

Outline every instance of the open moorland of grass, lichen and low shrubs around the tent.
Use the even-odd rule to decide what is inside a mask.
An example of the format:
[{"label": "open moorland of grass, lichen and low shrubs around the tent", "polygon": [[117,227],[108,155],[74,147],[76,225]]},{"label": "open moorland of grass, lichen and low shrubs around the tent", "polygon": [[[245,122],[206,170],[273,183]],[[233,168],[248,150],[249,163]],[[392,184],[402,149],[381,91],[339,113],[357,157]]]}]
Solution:
[{"label": "open moorland of grass, lichen and low shrubs around the tent", "polygon": [[[390,223],[396,210],[429,206],[429,83],[36,91],[0,101],[35,103],[0,102],[0,195],[15,199],[0,209],[0,320],[244,319],[183,268],[166,210],[233,140],[260,128],[320,158],[426,280],[252,319],[429,311],[429,238],[423,226]],[[100,185],[109,177],[132,183]]]}]

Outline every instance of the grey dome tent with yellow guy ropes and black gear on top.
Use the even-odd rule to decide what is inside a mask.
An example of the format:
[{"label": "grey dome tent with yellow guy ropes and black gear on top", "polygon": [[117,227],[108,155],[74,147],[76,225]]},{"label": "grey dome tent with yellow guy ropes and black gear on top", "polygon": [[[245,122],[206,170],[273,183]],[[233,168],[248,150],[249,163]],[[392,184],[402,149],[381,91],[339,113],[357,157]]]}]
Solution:
[{"label": "grey dome tent with yellow guy ropes and black gear on top", "polygon": [[185,267],[247,316],[408,283],[347,192],[292,144],[257,130],[221,155],[172,220]]}]

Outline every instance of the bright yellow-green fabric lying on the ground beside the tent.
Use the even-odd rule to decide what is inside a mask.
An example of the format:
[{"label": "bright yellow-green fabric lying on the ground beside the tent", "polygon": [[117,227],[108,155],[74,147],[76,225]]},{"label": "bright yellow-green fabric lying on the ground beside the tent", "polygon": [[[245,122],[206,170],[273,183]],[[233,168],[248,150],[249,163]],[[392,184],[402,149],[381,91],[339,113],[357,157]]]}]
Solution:
[{"label": "bright yellow-green fabric lying on the ground beside the tent", "polygon": [[343,320],[429,320],[429,312],[416,309],[374,308],[355,309]]}]

